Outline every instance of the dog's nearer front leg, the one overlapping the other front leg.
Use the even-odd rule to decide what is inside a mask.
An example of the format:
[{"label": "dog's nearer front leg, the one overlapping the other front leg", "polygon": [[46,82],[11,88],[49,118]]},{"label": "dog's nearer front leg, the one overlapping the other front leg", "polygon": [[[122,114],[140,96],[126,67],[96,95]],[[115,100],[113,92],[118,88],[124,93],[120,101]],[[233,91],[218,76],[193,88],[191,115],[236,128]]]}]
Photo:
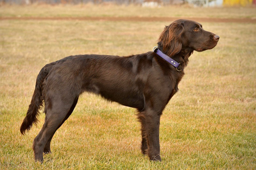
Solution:
[{"label": "dog's nearer front leg, the one overlapping the other front leg", "polygon": [[145,133],[145,138],[147,139],[147,155],[149,159],[161,161],[159,144],[160,114],[150,109],[140,112],[138,118],[141,122],[142,133]]}]

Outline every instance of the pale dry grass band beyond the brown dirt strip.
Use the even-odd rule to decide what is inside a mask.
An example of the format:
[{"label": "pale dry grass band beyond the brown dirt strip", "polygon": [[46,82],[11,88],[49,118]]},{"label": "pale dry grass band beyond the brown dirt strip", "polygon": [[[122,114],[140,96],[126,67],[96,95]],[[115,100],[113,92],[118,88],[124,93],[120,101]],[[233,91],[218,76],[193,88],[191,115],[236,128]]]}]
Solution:
[{"label": "pale dry grass band beyond the brown dirt strip", "polygon": [[203,18],[255,18],[253,7],[193,8],[186,5],[165,5],[157,8],[140,5],[24,5],[1,6],[0,17],[203,17]]}]

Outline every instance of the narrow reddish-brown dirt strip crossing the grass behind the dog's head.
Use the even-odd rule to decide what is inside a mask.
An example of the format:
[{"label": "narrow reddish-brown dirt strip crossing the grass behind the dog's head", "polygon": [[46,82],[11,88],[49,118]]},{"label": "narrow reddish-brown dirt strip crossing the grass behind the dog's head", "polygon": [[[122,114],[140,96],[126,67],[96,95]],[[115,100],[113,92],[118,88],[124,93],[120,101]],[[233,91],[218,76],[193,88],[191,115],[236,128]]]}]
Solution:
[{"label": "narrow reddish-brown dirt strip crossing the grass behind the dog's head", "polygon": [[[181,17],[182,18],[182,17]],[[0,17],[0,20],[174,21],[178,17]],[[197,22],[256,23],[256,18],[183,18]]]}]

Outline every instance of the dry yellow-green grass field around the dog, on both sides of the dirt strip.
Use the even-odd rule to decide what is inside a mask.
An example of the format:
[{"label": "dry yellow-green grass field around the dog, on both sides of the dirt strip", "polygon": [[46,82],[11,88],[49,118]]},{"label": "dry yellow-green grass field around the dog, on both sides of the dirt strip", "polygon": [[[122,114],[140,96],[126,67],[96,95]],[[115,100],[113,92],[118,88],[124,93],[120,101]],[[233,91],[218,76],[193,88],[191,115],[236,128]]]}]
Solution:
[{"label": "dry yellow-green grass field around the dog, on both sides of the dirt strip", "polygon": [[[0,17],[172,17],[167,7],[46,7],[1,6]],[[180,18],[256,16],[255,8],[170,7],[170,11]],[[52,153],[44,155],[44,163],[34,162],[32,142],[44,114],[26,136],[19,128],[40,69],[68,55],[151,51],[164,25],[171,22],[0,20],[0,168],[256,169],[256,24],[232,22],[201,23],[220,41],[212,50],[194,52],[180,91],[163,112],[162,162],[149,161],[140,153],[135,109],[92,94],[80,96],[73,114],[55,133]]]}]

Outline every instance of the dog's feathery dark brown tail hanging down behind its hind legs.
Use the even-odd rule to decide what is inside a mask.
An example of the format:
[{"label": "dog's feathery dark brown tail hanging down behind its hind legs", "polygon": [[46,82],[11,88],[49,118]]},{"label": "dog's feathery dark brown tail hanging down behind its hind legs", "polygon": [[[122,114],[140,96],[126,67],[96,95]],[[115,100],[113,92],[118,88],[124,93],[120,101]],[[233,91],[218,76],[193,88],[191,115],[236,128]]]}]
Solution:
[{"label": "dog's feathery dark brown tail hanging down behind its hind legs", "polygon": [[37,116],[40,113],[40,109],[43,105],[43,97],[42,97],[42,82],[44,81],[45,77],[48,75],[52,63],[45,65],[41,71],[39,72],[36,78],[36,88],[34,94],[31,99],[31,103],[28,107],[28,112],[26,117],[24,118],[21,126],[20,126],[20,133],[22,135],[25,134],[26,130],[28,131],[31,129],[33,124],[37,124],[38,119]]}]

